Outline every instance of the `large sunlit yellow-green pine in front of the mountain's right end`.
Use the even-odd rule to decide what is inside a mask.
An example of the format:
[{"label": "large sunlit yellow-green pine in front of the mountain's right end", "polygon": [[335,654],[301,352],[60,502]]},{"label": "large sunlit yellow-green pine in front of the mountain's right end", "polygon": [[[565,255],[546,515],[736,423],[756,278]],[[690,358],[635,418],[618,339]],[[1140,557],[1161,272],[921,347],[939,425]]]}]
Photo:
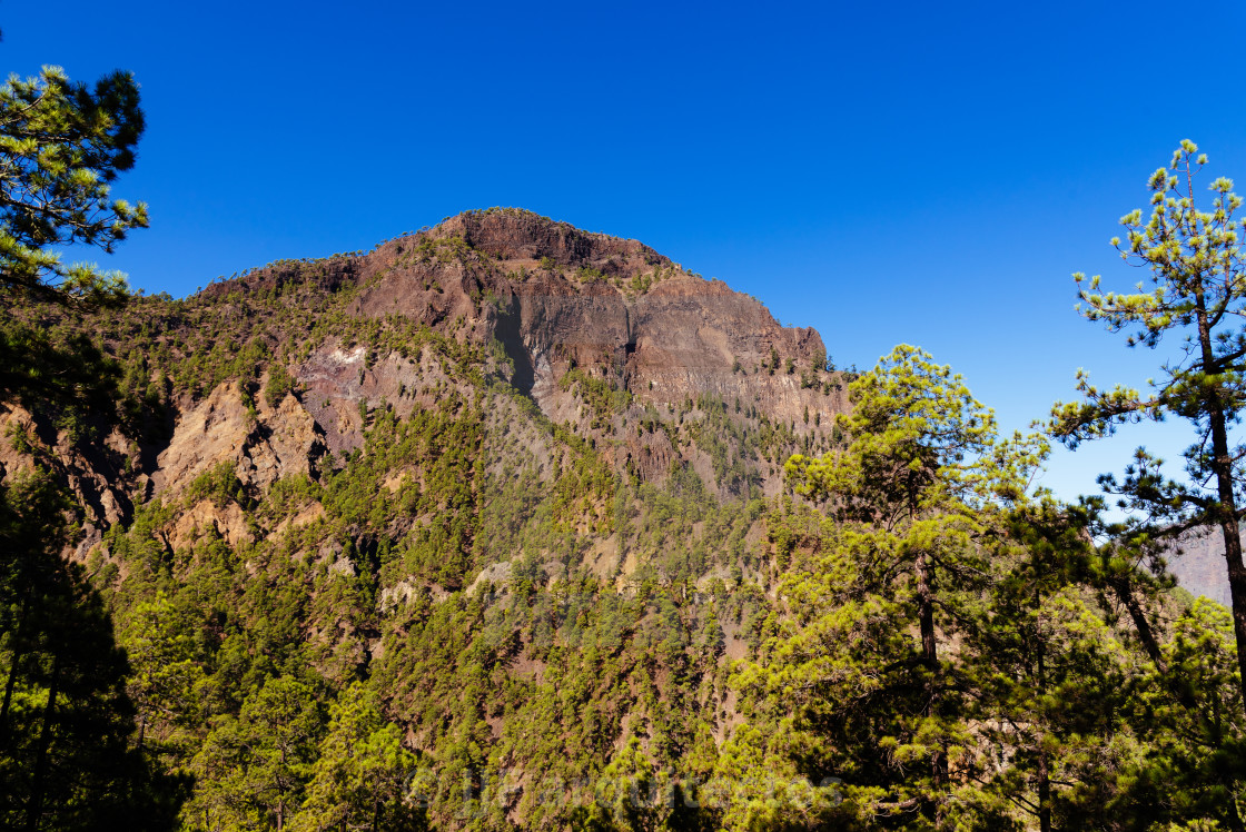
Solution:
[{"label": "large sunlit yellow-green pine in front of the mountain's right end", "polygon": [[794,619],[741,684],[795,709],[797,754],[830,766],[810,776],[842,776],[880,821],[920,812],[941,825],[972,773],[964,680],[946,645],[979,614],[981,539],[1024,497],[1044,446],[1001,440],[963,380],[916,347],[896,347],[849,392],[849,447],[787,463],[837,528],[787,578]]}]

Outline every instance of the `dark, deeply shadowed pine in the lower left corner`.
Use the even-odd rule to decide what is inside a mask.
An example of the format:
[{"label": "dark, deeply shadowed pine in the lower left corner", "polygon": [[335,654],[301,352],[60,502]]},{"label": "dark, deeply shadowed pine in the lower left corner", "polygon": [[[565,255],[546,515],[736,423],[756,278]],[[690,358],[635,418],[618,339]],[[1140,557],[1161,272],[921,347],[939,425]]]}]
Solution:
[{"label": "dark, deeply shadowed pine in the lower left corner", "polygon": [[128,665],[100,595],[61,557],[70,501],[41,466],[0,489],[0,826],[168,828],[174,783],[130,742]]}]

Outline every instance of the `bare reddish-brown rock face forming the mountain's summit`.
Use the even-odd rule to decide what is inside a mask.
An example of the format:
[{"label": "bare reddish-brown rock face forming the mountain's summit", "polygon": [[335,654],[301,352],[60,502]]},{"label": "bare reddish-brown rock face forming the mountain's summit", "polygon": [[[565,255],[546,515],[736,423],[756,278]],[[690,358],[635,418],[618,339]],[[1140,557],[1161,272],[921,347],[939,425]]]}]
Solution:
[{"label": "bare reddish-brown rock face forming the mountain's summit", "polygon": [[497,339],[515,364],[515,385],[551,417],[549,387],[571,367],[608,370],[642,402],[709,394],[787,423],[804,423],[806,409],[834,414],[846,405],[841,394],[801,386],[826,355],[816,331],[780,326],[756,299],[635,240],[492,210],[446,220],[424,245],[454,238],[471,247],[467,257],[415,258],[410,239],[368,255],[355,314],[461,320],[471,338]]}]

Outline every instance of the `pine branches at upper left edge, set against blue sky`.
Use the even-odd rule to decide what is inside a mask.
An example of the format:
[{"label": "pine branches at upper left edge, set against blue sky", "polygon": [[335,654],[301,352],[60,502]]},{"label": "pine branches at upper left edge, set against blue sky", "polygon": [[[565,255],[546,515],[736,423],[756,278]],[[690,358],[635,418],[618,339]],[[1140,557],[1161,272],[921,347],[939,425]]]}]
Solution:
[{"label": "pine branches at upper left edge, set against blue sky", "polygon": [[[111,253],[147,207],[112,198],[118,173],[135,163],[143,133],[138,85],[112,72],[93,88],[60,67],[0,86],[0,396],[29,410],[72,418],[112,417],[117,367],[83,334],[51,338],[39,304],[61,310],[118,306],[125,277],[95,264],[61,262],[83,244]],[[46,309],[44,311],[47,311]],[[40,313],[42,314],[42,313]]]}]

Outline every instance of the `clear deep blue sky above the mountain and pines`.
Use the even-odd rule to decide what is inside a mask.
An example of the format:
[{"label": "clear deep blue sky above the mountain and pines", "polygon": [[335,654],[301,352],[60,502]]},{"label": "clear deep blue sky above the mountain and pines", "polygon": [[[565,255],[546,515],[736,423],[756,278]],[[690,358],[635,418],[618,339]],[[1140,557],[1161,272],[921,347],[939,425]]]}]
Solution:
[{"label": "clear deep blue sky above the mountain and pines", "polygon": [[[9,71],[142,85],[116,193],[152,227],[106,258],[137,286],[520,206],[721,278],[840,364],[920,344],[1009,427],[1079,366],[1158,364],[1073,313],[1069,274],[1141,277],[1106,240],[1176,143],[1246,189],[1241,2],[10,0],[0,27]],[[1047,481],[1093,491],[1171,437],[1058,456]]]}]

